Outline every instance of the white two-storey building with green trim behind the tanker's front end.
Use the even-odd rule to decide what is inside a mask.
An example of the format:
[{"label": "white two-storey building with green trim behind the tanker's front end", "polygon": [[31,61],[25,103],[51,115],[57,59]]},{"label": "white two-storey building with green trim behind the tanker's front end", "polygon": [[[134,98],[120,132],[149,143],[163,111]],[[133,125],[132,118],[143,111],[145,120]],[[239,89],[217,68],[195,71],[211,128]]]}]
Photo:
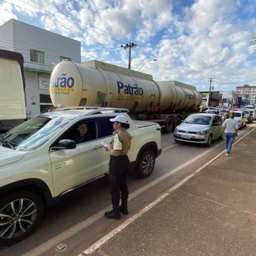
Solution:
[{"label": "white two-storey building with green trim behind the tanker's front end", "polygon": [[63,59],[81,62],[79,41],[15,19],[0,27],[0,47],[24,57],[28,118],[52,105],[49,80],[54,65]]}]

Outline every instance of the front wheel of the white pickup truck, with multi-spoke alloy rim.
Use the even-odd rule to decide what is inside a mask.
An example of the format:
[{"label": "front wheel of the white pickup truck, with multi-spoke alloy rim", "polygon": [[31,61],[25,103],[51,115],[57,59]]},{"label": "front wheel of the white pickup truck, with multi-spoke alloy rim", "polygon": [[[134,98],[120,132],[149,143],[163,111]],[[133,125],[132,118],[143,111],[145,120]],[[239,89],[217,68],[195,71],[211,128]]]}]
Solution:
[{"label": "front wheel of the white pickup truck, with multi-spoke alloy rim", "polygon": [[32,191],[0,199],[0,245],[12,245],[28,237],[39,225],[43,212],[42,200]]}]

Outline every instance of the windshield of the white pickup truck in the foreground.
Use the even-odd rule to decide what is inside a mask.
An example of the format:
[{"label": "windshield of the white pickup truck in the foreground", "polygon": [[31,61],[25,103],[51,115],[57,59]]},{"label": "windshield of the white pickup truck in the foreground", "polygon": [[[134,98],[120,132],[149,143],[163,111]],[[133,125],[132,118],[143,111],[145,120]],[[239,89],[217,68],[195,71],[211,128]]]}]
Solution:
[{"label": "windshield of the white pickup truck in the foreground", "polygon": [[34,117],[0,137],[0,145],[17,151],[36,150],[68,122],[70,120],[63,117]]}]

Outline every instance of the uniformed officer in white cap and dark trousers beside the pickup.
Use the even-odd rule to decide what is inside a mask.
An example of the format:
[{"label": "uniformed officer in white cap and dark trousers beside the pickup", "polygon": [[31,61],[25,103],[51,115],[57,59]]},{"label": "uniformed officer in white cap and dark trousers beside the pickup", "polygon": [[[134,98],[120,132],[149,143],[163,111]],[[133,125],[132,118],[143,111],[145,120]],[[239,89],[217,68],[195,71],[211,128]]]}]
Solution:
[{"label": "uniformed officer in white cap and dark trousers beside the pickup", "polygon": [[[110,153],[109,181],[113,209],[105,212],[105,217],[109,219],[120,219],[120,211],[127,215],[127,199],[129,195],[127,186],[127,172],[129,170],[129,158],[127,156],[131,147],[132,136],[126,131],[130,127],[124,115],[118,115],[113,119],[114,136],[110,146],[104,146]],[[121,191],[121,206],[119,206]]]}]

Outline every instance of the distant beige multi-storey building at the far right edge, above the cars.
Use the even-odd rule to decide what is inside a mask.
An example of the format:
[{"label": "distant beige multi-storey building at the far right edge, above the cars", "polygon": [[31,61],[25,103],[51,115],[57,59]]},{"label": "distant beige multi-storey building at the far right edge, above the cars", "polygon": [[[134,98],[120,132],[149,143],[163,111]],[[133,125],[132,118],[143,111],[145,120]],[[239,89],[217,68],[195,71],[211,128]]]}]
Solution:
[{"label": "distant beige multi-storey building at the far right edge, above the cars", "polygon": [[236,91],[239,102],[243,102],[244,105],[256,105],[256,86],[244,84],[236,87]]}]

